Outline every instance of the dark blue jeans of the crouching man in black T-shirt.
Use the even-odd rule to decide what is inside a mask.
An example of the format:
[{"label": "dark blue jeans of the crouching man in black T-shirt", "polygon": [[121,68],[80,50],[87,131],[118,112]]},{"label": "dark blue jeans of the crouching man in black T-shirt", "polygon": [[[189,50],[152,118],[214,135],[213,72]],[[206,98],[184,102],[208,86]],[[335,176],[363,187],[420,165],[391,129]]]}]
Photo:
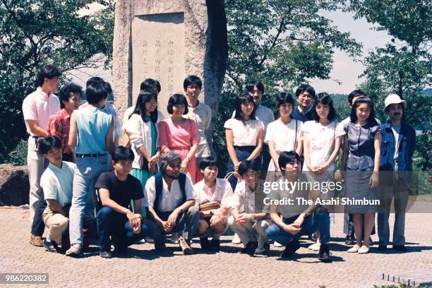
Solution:
[{"label": "dark blue jeans of the crouching man in black T-shirt", "polygon": [[109,207],[100,208],[99,212],[97,212],[96,222],[100,251],[111,250],[109,236],[117,236],[117,241],[114,245],[119,248],[131,246],[136,241],[148,236],[145,224],[141,224],[141,232],[135,234],[126,215],[116,212]]}]

